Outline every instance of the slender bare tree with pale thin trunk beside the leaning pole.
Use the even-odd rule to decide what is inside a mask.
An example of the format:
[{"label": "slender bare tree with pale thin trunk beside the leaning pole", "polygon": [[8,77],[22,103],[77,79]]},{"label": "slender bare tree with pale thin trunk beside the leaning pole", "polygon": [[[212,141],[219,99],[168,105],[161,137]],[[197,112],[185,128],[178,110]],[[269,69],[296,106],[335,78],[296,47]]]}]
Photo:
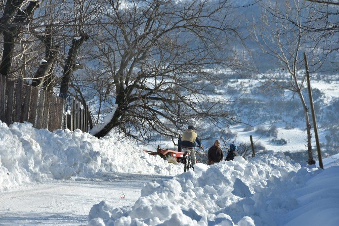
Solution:
[{"label": "slender bare tree with pale thin trunk beside the leaning pole", "polygon": [[[263,7],[262,27],[256,26],[253,35],[262,51],[279,63],[281,69],[289,75],[288,79],[284,79],[281,74],[264,77],[277,87],[287,89],[299,97],[307,129],[308,163],[315,164],[312,155],[309,108],[302,93],[305,73],[301,51],[308,50],[312,56],[317,43],[310,41],[314,40],[310,32],[298,25],[312,26],[311,22],[305,23],[305,15],[312,17],[317,14],[317,11],[299,0],[261,2],[261,5]],[[315,55],[313,57],[315,58]],[[320,64],[321,61],[319,60],[318,63]]]}]

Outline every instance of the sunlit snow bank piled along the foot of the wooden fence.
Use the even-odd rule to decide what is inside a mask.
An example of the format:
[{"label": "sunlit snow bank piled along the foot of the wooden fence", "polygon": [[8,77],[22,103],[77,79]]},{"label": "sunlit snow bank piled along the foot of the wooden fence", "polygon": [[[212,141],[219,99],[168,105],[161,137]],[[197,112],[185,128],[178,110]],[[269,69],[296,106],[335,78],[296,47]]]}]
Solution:
[{"label": "sunlit snow bank piled along the foot of the wooden fence", "polygon": [[160,157],[112,138],[80,130],[35,129],[30,123],[0,122],[0,191],[46,179],[88,177],[97,172],[176,175],[183,171]]}]

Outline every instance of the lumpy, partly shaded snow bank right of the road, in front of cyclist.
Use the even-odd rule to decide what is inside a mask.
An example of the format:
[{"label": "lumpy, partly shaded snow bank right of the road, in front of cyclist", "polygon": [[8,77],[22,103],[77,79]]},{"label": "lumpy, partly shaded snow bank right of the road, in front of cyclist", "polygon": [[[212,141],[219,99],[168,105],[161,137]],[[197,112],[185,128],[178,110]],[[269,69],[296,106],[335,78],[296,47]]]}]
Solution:
[{"label": "lumpy, partly shaded snow bank right of the road, in front of cyclist", "polygon": [[[109,209],[107,201],[94,205],[90,225],[315,225],[311,222],[315,209],[304,207],[326,196],[318,195],[331,183],[329,174],[335,174],[335,182],[326,188],[332,194],[328,198],[338,194],[339,188],[339,167],[333,172],[302,168],[282,153],[270,152],[249,161],[236,157],[212,166],[198,163],[195,168],[147,184],[133,206]],[[332,222],[339,222],[333,218],[339,216],[338,200],[325,202],[332,204],[327,212],[331,220],[335,218]],[[303,222],[305,218],[310,222]]]}]

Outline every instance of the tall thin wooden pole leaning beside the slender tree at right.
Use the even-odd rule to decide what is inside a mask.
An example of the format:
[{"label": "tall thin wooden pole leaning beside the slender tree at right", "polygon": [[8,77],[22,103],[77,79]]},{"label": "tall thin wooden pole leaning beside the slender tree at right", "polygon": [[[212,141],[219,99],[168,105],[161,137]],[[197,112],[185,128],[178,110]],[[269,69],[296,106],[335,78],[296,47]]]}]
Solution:
[{"label": "tall thin wooden pole leaning beside the slender tree at right", "polygon": [[304,53],[304,61],[305,61],[305,69],[306,69],[307,87],[308,87],[308,91],[309,91],[310,106],[311,106],[311,112],[312,112],[314,136],[315,136],[315,141],[316,141],[316,144],[317,144],[319,166],[320,166],[320,168],[324,169],[324,166],[322,164],[320,143],[319,143],[319,137],[318,137],[317,120],[315,118],[312,89],[311,89],[311,82],[310,82],[310,73],[309,73],[309,66],[308,66],[308,63],[307,63],[306,53]]}]

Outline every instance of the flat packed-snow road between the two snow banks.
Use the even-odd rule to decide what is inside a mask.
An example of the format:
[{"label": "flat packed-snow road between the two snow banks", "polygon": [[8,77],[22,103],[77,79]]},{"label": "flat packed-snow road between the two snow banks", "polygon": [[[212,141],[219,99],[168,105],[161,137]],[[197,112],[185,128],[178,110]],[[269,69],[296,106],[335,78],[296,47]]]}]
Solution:
[{"label": "flat packed-snow road between the two snow banks", "polygon": [[[52,180],[0,194],[0,225],[88,225],[88,214],[102,200],[132,205],[144,184],[168,176],[101,174],[97,178]],[[125,198],[121,199],[122,192]]]}]

